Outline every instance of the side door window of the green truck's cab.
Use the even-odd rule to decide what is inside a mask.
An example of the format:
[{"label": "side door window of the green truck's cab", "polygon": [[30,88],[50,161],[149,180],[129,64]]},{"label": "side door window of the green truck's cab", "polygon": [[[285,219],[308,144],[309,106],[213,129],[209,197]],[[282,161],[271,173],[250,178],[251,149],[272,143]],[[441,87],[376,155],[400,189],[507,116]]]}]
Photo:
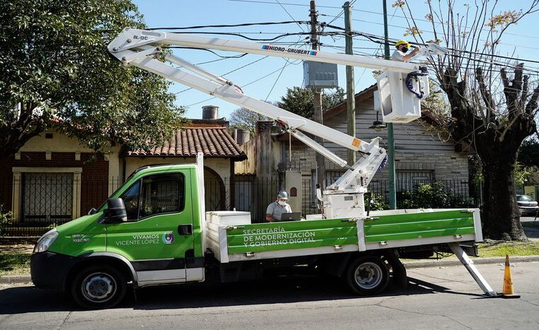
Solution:
[{"label": "side door window of the green truck's cab", "polygon": [[159,175],[142,179],[140,218],[183,210],[183,175]]}]

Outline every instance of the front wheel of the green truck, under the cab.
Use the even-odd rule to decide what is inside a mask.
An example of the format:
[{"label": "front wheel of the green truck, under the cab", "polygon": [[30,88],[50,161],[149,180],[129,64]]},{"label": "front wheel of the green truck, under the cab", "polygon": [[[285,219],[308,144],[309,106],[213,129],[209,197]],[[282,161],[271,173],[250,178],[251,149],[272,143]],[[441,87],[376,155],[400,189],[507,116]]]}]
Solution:
[{"label": "front wheel of the green truck, under the cab", "polygon": [[112,266],[88,266],[76,274],[71,286],[75,302],[90,309],[110,308],[125,297],[127,280]]}]

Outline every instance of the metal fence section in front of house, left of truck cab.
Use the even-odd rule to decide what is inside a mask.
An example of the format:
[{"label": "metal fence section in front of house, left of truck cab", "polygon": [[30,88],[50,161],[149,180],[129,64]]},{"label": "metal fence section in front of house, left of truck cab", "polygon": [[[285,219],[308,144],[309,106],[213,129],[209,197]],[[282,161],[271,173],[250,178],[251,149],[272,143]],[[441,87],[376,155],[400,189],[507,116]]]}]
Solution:
[{"label": "metal fence section in front of house, left of truck cab", "polygon": [[0,187],[0,236],[38,236],[98,208],[120,178],[24,173]]}]

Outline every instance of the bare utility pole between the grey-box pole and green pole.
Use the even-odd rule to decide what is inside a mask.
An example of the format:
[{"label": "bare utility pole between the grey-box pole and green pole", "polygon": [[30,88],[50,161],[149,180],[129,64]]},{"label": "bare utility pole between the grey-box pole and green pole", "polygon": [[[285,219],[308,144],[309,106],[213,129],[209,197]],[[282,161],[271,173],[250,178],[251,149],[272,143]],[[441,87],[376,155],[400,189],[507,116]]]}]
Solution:
[{"label": "bare utility pole between the grey-box pole and green pole", "polygon": [[[352,6],[344,3],[344,30],[346,32],[346,54],[353,55],[352,41]],[[346,114],[348,117],[348,135],[356,137],[356,91],[354,90],[353,66],[346,66]],[[348,165],[356,163],[356,151],[348,149]]]}]

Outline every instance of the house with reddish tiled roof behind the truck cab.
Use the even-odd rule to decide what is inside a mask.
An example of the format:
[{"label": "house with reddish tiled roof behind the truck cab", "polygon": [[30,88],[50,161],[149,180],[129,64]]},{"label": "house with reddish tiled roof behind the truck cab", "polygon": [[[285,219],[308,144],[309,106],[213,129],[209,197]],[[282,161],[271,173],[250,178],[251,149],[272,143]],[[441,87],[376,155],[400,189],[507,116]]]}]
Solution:
[{"label": "house with reddish tiled roof behind the truck cab", "polygon": [[228,122],[217,118],[217,107],[210,108],[210,118],[191,119],[149,151],[116,145],[97,154],[57,131],[43,132],[12,158],[0,160],[0,206],[28,227],[64,223],[98,208],[138,167],[195,163],[202,152],[207,210],[232,208],[234,163],[247,157],[229,134]]}]

